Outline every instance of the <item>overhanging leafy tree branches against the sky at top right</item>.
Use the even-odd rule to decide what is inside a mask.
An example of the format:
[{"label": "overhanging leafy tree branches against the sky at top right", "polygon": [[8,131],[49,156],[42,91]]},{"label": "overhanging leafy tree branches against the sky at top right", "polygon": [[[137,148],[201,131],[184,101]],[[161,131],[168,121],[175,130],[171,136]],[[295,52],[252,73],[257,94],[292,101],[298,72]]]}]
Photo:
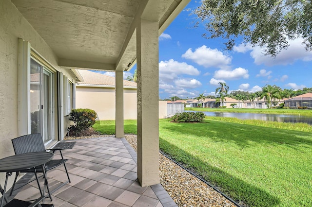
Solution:
[{"label": "overhanging leafy tree branches against the sky at top right", "polygon": [[229,50],[242,37],[275,56],[289,46],[289,39],[302,37],[306,50],[312,51],[311,0],[202,0],[194,13],[206,25],[203,36],[227,39]]}]

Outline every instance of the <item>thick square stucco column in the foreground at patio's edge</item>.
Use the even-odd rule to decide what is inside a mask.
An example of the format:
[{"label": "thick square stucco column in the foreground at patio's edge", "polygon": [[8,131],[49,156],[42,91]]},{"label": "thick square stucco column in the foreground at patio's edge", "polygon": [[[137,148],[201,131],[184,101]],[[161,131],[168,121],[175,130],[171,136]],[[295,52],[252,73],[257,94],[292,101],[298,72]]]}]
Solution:
[{"label": "thick square stucco column in the foreground at patio's edge", "polygon": [[137,27],[137,178],[159,183],[158,22]]}]

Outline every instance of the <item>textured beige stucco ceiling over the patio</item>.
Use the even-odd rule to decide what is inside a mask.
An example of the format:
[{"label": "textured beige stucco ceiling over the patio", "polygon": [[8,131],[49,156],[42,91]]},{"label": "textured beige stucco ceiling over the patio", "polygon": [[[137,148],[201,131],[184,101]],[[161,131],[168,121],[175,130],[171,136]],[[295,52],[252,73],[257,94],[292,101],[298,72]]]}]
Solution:
[{"label": "textured beige stucco ceiling over the patio", "polygon": [[129,70],[136,62],[141,18],[160,35],[190,0],[12,0],[69,68]]}]

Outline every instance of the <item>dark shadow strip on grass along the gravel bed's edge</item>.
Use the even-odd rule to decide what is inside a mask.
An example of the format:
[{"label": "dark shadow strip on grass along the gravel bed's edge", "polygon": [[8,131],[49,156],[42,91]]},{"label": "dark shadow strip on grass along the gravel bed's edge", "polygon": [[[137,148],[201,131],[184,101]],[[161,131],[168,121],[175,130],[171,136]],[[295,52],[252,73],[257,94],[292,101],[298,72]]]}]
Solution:
[{"label": "dark shadow strip on grass along the gravel bed's edge", "polygon": [[203,162],[162,138],[159,138],[159,144],[163,152],[177,162],[183,162],[186,168],[194,169],[203,179],[213,184],[237,203],[242,202],[250,207],[273,207],[280,204],[280,200],[268,192]]}]

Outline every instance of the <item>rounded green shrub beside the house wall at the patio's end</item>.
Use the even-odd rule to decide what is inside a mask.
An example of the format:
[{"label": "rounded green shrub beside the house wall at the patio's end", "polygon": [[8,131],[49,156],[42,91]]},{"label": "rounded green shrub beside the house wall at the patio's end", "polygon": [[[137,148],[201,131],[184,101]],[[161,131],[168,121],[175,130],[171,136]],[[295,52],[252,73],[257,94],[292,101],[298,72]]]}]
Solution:
[{"label": "rounded green shrub beside the house wall at the patio's end", "polygon": [[97,113],[92,109],[72,109],[69,113],[69,120],[74,124],[68,127],[70,135],[79,136],[84,130],[93,126],[97,119]]}]

